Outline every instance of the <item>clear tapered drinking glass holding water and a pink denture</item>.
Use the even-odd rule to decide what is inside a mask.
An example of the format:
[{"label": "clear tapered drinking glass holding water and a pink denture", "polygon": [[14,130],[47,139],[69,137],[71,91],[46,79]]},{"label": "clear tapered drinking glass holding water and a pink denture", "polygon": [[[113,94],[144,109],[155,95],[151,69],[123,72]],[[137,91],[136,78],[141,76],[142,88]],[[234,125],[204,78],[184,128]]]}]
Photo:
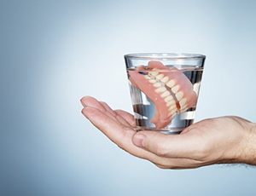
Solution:
[{"label": "clear tapered drinking glass holding water and a pink denture", "polygon": [[137,130],[178,134],[195,119],[205,55],[125,55]]}]

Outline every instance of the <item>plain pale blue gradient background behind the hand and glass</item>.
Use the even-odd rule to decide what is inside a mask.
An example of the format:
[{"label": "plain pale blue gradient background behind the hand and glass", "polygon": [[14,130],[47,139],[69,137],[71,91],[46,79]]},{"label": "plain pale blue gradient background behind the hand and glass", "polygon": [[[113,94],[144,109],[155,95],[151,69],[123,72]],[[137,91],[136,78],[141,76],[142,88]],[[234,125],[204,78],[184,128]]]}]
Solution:
[{"label": "plain pale blue gradient background behind the hand and glass", "polygon": [[80,113],[93,95],[131,112],[123,55],[207,55],[196,120],[256,122],[255,1],[0,3],[0,195],[255,195],[256,170],[160,170]]}]

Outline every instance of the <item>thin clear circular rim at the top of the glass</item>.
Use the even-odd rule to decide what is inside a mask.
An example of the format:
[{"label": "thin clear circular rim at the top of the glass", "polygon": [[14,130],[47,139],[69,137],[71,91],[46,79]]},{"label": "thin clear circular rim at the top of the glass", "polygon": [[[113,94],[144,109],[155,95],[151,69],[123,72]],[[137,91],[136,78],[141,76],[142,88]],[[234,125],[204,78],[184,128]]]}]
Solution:
[{"label": "thin clear circular rim at the top of the glass", "polygon": [[131,59],[206,59],[206,55],[191,53],[133,53],[125,55]]}]

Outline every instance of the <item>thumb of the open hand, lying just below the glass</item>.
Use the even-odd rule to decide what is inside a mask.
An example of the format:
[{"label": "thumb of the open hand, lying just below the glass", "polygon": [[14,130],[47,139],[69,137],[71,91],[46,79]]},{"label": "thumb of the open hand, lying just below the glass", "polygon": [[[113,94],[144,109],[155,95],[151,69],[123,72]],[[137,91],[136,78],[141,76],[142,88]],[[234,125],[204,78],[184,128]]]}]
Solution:
[{"label": "thumb of the open hand, lying just below the glass", "polygon": [[200,152],[199,145],[192,135],[165,135],[157,131],[139,131],[132,138],[137,147],[143,147],[160,157],[195,158]]}]

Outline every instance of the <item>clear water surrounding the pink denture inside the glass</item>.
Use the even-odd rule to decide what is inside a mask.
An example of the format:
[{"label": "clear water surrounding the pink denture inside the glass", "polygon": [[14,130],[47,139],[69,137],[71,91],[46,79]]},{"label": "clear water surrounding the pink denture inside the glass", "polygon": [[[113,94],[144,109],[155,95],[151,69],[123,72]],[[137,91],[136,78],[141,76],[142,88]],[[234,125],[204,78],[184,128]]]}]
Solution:
[{"label": "clear water surrounding the pink denture inside the glass", "polygon": [[[181,71],[186,78],[189,79],[190,83],[193,85],[193,90],[195,91],[195,94],[198,98],[203,69],[201,67],[195,66],[178,66],[177,69]],[[150,71],[152,70],[143,70],[142,72],[141,70],[137,70],[136,68],[130,68],[127,70],[128,78],[131,80],[131,75],[135,72],[140,72],[143,75],[148,75]],[[168,74],[168,72],[171,72],[171,70],[166,69],[158,71],[159,74]],[[160,130],[166,134],[176,134],[180,133],[190,124],[193,124],[195,119],[197,99],[193,107],[189,107],[187,110],[185,108],[185,111],[177,112],[177,114],[172,118],[172,122],[170,124],[167,124],[165,127],[156,128],[156,125],[151,122],[152,118],[154,118],[155,112],[157,112],[154,101],[152,101],[148,97],[148,95],[143,93],[141,89],[137,88],[134,84],[132,84],[131,81],[129,82],[129,85],[131,90],[133,111],[137,122],[137,130]],[[151,90],[151,92],[152,91],[154,90]]]}]

